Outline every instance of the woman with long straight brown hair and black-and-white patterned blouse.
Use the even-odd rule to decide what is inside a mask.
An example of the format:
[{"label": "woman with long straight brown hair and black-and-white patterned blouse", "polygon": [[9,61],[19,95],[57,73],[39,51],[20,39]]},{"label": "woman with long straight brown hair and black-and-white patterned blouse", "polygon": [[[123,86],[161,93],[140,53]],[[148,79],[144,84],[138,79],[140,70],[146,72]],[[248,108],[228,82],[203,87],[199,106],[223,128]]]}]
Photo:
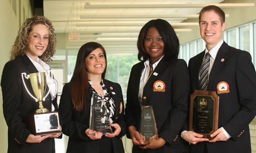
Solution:
[{"label": "woman with long straight brown hair and black-and-white patterned blouse", "polygon": [[[62,131],[69,136],[67,152],[124,152],[124,100],[121,86],[104,79],[106,52],[101,44],[89,42],[79,49],[70,83],[63,87],[60,100]],[[112,126],[112,134],[90,130],[92,94],[100,94]]]}]

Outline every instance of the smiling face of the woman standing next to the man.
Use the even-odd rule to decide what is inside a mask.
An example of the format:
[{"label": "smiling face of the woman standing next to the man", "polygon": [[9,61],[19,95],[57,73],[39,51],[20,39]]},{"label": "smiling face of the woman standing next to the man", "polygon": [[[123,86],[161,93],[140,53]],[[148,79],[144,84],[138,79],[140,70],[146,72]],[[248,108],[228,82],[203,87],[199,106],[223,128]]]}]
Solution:
[{"label": "smiling face of the woman standing next to the man", "polygon": [[164,55],[164,41],[155,27],[149,28],[144,39],[144,48],[152,63]]}]

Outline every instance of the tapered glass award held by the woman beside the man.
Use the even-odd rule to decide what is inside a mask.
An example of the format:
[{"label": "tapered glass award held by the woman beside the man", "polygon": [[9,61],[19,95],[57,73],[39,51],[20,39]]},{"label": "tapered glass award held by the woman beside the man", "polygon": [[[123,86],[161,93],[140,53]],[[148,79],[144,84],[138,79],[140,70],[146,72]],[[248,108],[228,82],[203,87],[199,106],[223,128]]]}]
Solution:
[{"label": "tapered glass award held by the woman beside the man", "polygon": [[150,137],[158,139],[156,121],[152,106],[141,107],[141,120],[139,132],[142,141],[147,141],[150,139]]}]

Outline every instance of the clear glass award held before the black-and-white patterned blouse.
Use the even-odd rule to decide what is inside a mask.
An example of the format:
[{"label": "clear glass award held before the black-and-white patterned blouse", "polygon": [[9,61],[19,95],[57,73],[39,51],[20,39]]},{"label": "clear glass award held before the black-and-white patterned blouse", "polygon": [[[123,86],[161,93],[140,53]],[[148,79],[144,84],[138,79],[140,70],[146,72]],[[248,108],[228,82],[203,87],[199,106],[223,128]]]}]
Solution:
[{"label": "clear glass award held before the black-and-white patterned blouse", "polygon": [[100,94],[93,93],[91,98],[90,130],[112,133],[109,114]]}]

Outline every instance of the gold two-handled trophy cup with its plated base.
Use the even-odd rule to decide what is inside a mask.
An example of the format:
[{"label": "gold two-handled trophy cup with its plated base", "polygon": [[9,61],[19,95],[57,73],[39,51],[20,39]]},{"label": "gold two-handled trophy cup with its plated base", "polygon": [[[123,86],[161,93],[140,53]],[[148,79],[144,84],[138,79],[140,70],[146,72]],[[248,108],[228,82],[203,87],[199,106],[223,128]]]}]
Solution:
[{"label": "gold two-handled trophy cup with its plated base", "polygon": [[[39,109],[36,110],[36,114],[31,114],[28,116],[29,126],[28,129],[34,135],[49,135],[49,134],[57,134],[62,133],[60,127],[60,120],[58,117],[57,111],[49,112],[47,108],[43,107],[42,102],[45,101],[45,98],[50,93],[51,88],[46,94],[47,84],[46,84],[46,76],[50,75],[51,70],[46,74],[45,72],[41,73],[31,73],[26,74],[22,73],[23,84],[28,92],[28,94],[35,99],[35,101],[39,102]],[[52,73],[51,73],[52,74]],[[36,98],[28,91],[26,83],[24,81],[24,77],[26,79],[30,79],[33,92]],[[52,78],[53,76],[51,76]]]}]

